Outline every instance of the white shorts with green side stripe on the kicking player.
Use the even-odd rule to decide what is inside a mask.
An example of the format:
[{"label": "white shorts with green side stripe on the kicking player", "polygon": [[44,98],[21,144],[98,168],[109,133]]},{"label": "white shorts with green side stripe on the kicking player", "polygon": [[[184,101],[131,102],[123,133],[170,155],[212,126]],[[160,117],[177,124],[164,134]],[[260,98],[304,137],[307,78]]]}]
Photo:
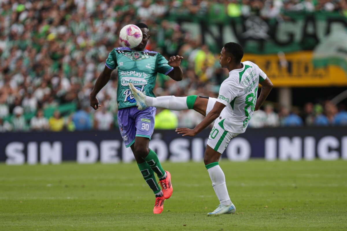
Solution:
[{"label": "white shorts with green side stripe on the kicking player", "polygon": [[[206,115],[212,110],[216,101],[216,98],[209,98],[206,108]],[[223,122],[224,119],[220,118],[217,118],[214,121],[213,128],[210,132],[209,139],[207,141],[207,145],[213,148],[214,151],[219,152],[221,154],[227,148],[231,138],[234,138],[239,134],[224,130]]]}]

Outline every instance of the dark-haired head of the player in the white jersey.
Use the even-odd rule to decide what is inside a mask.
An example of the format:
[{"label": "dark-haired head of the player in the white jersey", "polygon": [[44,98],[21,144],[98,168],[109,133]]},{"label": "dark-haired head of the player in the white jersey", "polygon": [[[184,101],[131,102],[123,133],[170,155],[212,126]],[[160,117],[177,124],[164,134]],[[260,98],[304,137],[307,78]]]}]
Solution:
[{"label": "dark-haired head of the player in the white jersey", "polygon": [[238,64],[243,57],[243,48],[237,43],[226,43],[220,52],[220,65],[222,68],[228,66],[228,64]]}]

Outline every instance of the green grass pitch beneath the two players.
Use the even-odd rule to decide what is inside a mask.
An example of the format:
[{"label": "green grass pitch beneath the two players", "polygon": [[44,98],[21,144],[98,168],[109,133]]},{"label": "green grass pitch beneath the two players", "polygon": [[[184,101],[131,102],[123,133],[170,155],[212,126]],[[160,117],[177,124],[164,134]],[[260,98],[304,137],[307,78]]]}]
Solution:
[{"label": "green grass pitch beneath the two players", "polygon": [[135,163],[0,165],[0,230],[346,230],[347,161],[221,161],[235,214],[203,163],[163,163],[174,194],[162,214]]}]

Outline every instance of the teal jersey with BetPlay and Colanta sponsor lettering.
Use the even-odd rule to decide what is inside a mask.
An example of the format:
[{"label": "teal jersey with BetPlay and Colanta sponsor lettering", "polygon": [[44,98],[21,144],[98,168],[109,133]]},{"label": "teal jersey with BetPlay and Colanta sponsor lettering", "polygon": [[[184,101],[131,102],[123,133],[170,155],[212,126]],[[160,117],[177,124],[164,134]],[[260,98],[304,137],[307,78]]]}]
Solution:
[{"label": "teal jersey with BetPlay and Colanta sponsor lettering", "polygon": [[106,60],[106,66],[112,70],[118,67],[118,109],[136,106],[129,82],[145,95],[155,97],[153,88],[157,73],[167,75],[174,69],[158,52],[133,51],[128,47],[113,48]]}]

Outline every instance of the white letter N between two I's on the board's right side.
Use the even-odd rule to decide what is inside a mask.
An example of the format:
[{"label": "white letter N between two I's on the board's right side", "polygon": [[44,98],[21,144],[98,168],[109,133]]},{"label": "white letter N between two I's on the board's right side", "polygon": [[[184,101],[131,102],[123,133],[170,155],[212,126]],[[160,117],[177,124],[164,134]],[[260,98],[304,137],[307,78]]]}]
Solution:
[{"label": "white letter N between two I's on the board's right side", "polygon": [[302,157],[302,139],[301,137],[280,137],[278,139],[278,152],[280,160],[300,160]]}]

